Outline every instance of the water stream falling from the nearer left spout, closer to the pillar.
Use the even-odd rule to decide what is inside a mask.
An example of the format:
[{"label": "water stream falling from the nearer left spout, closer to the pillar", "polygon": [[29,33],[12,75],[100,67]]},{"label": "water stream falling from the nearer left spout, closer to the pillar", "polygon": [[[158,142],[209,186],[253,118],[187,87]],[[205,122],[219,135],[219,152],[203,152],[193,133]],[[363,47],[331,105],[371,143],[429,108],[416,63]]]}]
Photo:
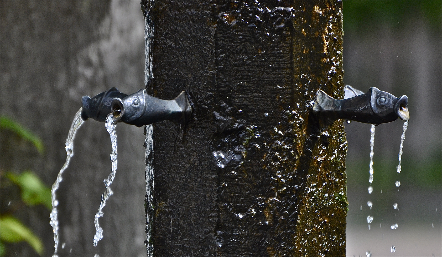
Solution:
[{"label": "water stream falling from the nearer left spout, closer to the pillar", "polygon": [[114,192],[110,189],[110,184],[114,181],[115,173],[117,172],[117,123],[118,120],[114,118],[114,114],[110,113],[106,117],[106,130],[110,135],[110,143],[112,144],[112,152],[110,152],[110,161],[112,162],[112,171],[110,172],[107,179],[104,179],[104,185],[106,186],[106,190],[101,196],[100,208],[98,209],[97,214],[95,214],[95,235],[94,235],[94,246],[97,246],[98,241],[103,239],[103,228],[100,227],[98,223],[98,219],[103,217],[103,208],[106,206],[106,201],[109,199]]}]

